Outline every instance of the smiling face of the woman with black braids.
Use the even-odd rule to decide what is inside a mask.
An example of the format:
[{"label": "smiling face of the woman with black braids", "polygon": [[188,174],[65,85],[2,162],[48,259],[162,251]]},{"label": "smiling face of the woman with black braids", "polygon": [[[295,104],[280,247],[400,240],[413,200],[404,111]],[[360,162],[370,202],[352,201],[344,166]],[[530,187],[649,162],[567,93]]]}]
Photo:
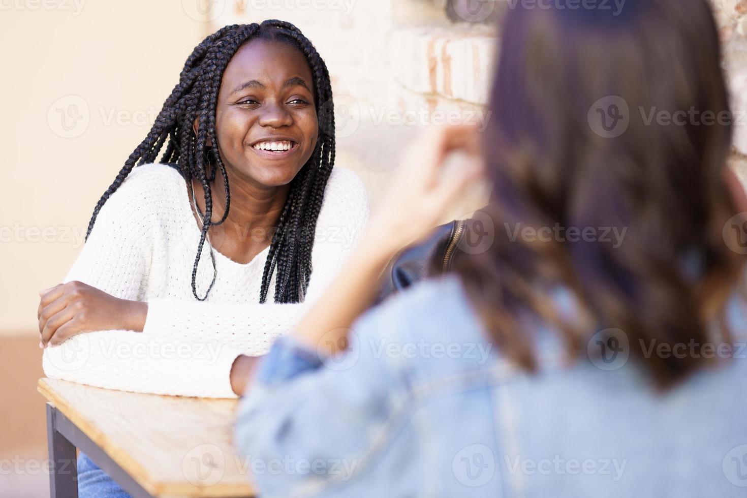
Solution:
[{"label": "smiling face of the woman with black braids", "polygon": [[230,172],[257,187],[293,180],[317,144],[313,84],[294,46],[252,40],[238,49],[223,72],[215,112]]}]

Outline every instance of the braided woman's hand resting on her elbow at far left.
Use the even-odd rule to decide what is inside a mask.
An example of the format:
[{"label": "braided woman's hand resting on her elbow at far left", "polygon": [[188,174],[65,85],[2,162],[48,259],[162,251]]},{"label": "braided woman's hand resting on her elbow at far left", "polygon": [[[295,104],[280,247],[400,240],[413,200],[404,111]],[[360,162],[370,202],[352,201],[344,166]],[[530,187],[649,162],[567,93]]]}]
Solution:
[{"label": "braided woman's hand resting on her elbow at far left", "polygon": [[79,281],[49,287],[39,295],[39,347],[57,346],[84,332],[142,332],[148,312],[146,302],[119,299]]}]

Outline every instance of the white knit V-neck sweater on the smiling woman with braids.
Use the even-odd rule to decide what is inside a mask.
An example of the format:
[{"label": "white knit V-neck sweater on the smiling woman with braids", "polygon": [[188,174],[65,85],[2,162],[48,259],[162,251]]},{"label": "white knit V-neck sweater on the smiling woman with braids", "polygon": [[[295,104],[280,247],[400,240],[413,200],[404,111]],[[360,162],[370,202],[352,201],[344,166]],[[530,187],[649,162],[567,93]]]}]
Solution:
[{"label": "white knit V-neck sweater on the smiling woman with braids", "polygon": [[[214,244],[217,277],[208,299],[191,288],[199,227],[187,184],[164,164],[135,168],[105,203],[65,281],[78,280],[122,299],[148,302],[142,333],[109,330],[78,334],[44,351],[46,376],[143,393],[235,397],[229,373],[240,354],[261,355],[296,326],[341,269],[368,221],[359,178],[335,167],[317,220],[306,299],[275,304],[275,274],[268,302],[259,304],[269,248],[238,264]],[[252,236],[251,229],[247,237]],[[196,286],[213,276],[208,243]]]}]

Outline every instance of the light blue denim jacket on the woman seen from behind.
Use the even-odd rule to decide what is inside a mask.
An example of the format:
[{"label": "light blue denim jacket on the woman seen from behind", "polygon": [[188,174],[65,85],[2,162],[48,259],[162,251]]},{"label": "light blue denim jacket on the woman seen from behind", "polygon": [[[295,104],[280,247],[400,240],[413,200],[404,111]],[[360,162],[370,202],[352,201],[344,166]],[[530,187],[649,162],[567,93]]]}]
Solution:
[{"label": "light blue denim jacket on the woman seen from behind", "polygon": [[[734,300],[734,332],[746,317]],[[338,357],[286,337],[259,367],[235,438],[261,496],[747,497],[741,339],[695,349],[734,358],[656,393],[623,331],[569,363],[540,329],[530,375],[486,340],[456,277],[353,331]]]}]

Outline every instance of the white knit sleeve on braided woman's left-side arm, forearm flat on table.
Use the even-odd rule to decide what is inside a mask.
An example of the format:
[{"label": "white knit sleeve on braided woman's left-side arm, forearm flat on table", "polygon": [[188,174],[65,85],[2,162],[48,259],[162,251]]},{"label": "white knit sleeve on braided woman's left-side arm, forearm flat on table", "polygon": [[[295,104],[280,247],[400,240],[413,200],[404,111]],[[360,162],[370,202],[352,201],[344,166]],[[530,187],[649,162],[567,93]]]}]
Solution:
[{"label": "white knit sleeve on braided woman's left-side arm, forearm flat on table", "polygon": [[[149,168],[153,166],[141,166]],[[156,166],[167,167],[167,166]],[[152,175],[131,174],[99,211],[65,281],[81,281],[120,299],[143,292],[157,227],[143,199],[158,195]],[[78,334],[44,349],[46,376],[143,393],[235,397],[230,371],[241,351],[205,339],[154,337],[124,330]]]}]

